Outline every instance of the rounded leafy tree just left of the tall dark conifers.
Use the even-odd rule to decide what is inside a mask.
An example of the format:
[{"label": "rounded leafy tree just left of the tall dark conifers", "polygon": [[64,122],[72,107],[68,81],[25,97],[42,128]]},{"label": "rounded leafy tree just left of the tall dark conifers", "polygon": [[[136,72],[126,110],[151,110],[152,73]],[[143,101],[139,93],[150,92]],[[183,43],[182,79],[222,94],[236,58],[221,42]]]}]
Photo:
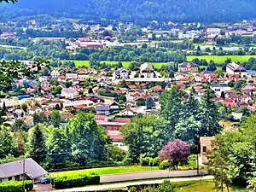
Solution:
[{"label": "rounded leafy tree just left of the tall dark conifers", "polygon": [[129,156],[135,163],[139,162],[140,155],[153,158],[157,156],[158,151],[169,140],[166,125],[165,119],[146,115],[133,118],[122,127],[121,132],[129,147]]}]

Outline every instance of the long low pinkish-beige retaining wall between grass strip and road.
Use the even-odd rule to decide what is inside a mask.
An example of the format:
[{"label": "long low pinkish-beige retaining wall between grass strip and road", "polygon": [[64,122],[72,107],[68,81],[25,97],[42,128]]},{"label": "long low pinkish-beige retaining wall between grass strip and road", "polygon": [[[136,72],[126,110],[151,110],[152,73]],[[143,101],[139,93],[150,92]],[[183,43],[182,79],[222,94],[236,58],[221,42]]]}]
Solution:
[{"label": "long low pinkish-beige retaining wall between grass strip and road", "polygon": [[[207,170],[199,170],[199,175],[207,174]],[[192,177],[197,176],[197,170],[185,170],[185,171],[151,171],[151,172],[131,172],[122,174],[102,175],[100,183],[114,183],[124,182],[132,180],[143,180],[153,178],[165,178],[165,177]]]}]

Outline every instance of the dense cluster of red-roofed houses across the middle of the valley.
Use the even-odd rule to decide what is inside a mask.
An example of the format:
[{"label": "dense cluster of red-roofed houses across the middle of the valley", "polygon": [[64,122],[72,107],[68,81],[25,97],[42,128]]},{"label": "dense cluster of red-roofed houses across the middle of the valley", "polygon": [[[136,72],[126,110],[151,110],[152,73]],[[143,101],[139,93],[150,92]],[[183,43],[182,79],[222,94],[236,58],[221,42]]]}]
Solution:
[{"label": "dense cluster of red-roofed houses across the middle of the valley", "polygon": [[[241,80],[245,83],[239,90],[229,85]],[[204,85],[210,84],[216,95],[215,101],[227,108],[247,108],[256,112],[256,103],[253,102],[256,96],[255,73],[247,73],[244,67],[234,62],[227,65],[223,77],[211,71],[200,72],[195,63],[184,62],[179,64],[174,78],[163,78],[152,65],[143,63],[137,71],[125,68],[100,71],[93,68],[55,69],[49,76],[39,77],[38,82],[22,79],[15,84],[26,87],[26,95],[0,100],[0,105],[4,103],[8,109],[5,118],[10,125],[16,119],[33,125],[33,114],[44,113],[49,116],[55,108],[61,111],[63,119],[72,119],[73,111],[93,108],[97,122],[108,130],[108,135],[120,147],[124,147],[120,142],[120,128],[135,115],[159,114],[160,94],[170,84],[186,91],[193,90],[199,100],[206,91]],[[55,90],[58,92],[54,94]],[[118,96],[123,98],[118,99]],[[151,108],[147,107],[148,98],[154,101]],[[26,111],[20,108],[24,102],[27,103]]]}]

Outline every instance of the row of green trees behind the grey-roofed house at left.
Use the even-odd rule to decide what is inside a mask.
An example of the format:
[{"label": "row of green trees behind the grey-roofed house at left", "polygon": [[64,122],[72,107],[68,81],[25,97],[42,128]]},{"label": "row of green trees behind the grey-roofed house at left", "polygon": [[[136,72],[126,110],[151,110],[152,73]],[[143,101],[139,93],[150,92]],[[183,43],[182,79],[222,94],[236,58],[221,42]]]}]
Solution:
[{"label": "row of green trees behind the grey-roofed house at left", "polygon": [[13,157],[29,156],[47,169],[61,169],[124,158],[125,152],[111,145],[94,114],[78,113],[61,127],[57,118],[52,118],[50,125],[38,122],[28,131],[19,129],[14,134],[2,126],[0,159],[9,161]]}]

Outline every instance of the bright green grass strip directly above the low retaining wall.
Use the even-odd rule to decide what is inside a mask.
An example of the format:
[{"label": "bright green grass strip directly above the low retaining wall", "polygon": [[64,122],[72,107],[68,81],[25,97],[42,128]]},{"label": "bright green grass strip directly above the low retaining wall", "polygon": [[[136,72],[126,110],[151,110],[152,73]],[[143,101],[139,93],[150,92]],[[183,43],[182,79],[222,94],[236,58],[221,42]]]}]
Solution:
[{"label": "bright green grass strip directly above the low retaining wall", "polygon": [[72,176],[79,174],[89,174],[90,172],[94,172],[98,175],[105,174],[117,174],[117,173],[125,173],[125,172],[145,172],[145,171],[156,171],[158,167],[143,167],[143,166],[115,166],[115,167],[103,167],[103,168],[94,168],[94,169],[84,169],[84,170],[76,170],[76,171],[67,171],[67,172],[51,172],[49,173],[50,177],[62,177],[62,176]]}]

